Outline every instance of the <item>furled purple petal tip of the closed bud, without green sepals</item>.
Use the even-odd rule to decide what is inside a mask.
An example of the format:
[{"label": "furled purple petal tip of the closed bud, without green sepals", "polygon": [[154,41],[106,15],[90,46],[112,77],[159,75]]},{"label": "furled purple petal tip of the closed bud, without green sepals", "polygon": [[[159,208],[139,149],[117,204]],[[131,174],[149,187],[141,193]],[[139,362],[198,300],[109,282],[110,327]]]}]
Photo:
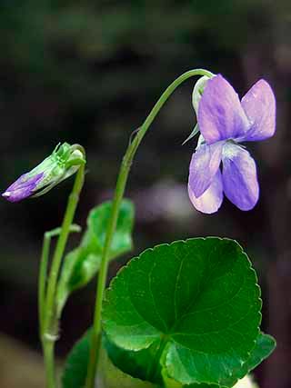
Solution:
[{"label": "furled purple petal tip of the closed bud, without green sepals", "polygon": [[19,202],[35,193],[35,188],[43,177],[43,173],[27,179],[27,174],[21,175],[2,194],[9,202]]}]

